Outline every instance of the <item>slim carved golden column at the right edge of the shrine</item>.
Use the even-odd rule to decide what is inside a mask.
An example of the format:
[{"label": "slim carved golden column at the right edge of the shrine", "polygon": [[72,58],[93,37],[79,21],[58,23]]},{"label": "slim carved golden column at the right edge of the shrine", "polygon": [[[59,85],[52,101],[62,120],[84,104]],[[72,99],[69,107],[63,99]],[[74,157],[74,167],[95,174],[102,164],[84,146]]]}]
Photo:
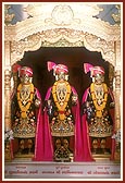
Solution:
[{"label": "slim carved golden column at the right edge of the shrine", "polygon": [[122,62],[121,62],[121,41],[116,41],[115,45],[115,154],[114,159],[121,161],[121,109],[122,109],[122,94],[121,94],[121,75],[122,75]]}]

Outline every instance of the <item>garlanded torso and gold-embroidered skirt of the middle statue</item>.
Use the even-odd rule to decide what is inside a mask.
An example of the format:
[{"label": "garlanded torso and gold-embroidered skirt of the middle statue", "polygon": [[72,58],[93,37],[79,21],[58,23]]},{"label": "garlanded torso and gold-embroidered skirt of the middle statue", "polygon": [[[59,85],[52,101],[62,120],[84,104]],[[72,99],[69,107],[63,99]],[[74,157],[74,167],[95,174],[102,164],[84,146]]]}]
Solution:
[{"label": "garlanded torso and gold-embroidered skirt of the middle statue", "polygon": [[66,81],[57,81],[52,87],[52,97],[57,112],[51,122],[52,136],[74,135],[74,119],[70,109],[71,86]]}]

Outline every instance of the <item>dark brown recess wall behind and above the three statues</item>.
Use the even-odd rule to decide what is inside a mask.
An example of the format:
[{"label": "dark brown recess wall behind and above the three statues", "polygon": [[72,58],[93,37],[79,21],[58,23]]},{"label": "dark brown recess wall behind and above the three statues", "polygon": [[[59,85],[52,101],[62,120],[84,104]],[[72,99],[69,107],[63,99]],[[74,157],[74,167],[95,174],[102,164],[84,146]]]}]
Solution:
[{"label": "dark brown recess wall behind and above the three statues", "polygon": [[84,63],[101,65],[105,70],[105,83],[109,85],[109,62],[100,52],[88,51],[84,47],[42,47],[37,51],[27,51],[18,63],[30,66],[34,72],[33,83],[39,89],[42,100],[50,86],[54,83],[53,71],[48,72],[47,62],[65,64],[68,68],[68,82],[78,93],[79,101],[85,89],[90,85],[90,73],[84,73]]}]

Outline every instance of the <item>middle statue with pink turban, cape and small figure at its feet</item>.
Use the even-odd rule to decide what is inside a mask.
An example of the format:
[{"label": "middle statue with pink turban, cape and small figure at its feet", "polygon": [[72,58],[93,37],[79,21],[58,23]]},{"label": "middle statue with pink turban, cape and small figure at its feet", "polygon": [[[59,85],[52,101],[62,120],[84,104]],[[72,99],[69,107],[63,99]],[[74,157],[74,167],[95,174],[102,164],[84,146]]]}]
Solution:
[{"label": "middle statue with pink turban, cape and small figure at its feet", "polygon": [[[51,160],[82,160],[77,134],[80,136],[78,96],[70,85],[68,70],[64,64],[48,62],[48,71],[53,70],[55,82],[46,95],[45,124],[49,126],[49,151]],[[82,138],[79,139],[79,142]],[[48,150],[47,150],[48,154]],[[80,155],[79,155],[80,154]]]}]

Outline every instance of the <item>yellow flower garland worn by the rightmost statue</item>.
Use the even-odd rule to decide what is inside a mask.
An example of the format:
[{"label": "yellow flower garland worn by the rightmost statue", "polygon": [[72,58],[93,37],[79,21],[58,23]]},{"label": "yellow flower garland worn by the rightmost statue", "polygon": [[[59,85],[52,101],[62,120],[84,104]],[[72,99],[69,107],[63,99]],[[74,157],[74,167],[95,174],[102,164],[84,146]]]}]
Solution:
[{"label": "yellow flower garland worn by the rightmost statue", "polygon": [[102,110],[105,108],[107,100],[108,100],[108,86],[107,86],[107,84],[103,83],[102,87],[104,89],[104,97],[103,97],[102,103],[99,106],[98,102],[97,102],[96,95],[95,95],[95,83],[91,83],[91,85],[90,85],[90,93],[91,93],[93,105],[95,105],[96,110],[97,110],[96,115],[98,118],[102,117]]}]

